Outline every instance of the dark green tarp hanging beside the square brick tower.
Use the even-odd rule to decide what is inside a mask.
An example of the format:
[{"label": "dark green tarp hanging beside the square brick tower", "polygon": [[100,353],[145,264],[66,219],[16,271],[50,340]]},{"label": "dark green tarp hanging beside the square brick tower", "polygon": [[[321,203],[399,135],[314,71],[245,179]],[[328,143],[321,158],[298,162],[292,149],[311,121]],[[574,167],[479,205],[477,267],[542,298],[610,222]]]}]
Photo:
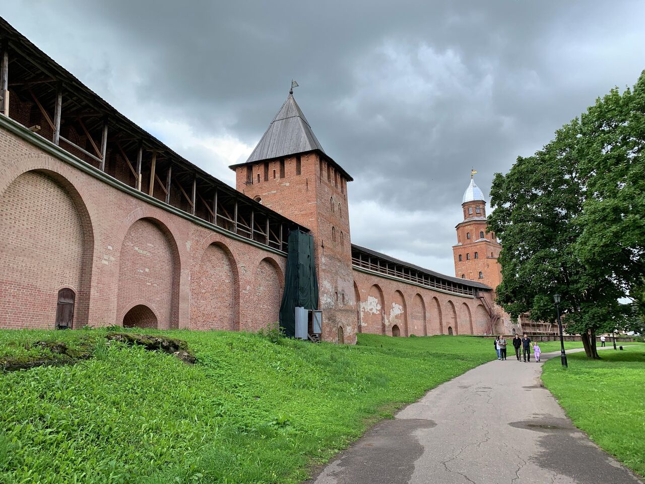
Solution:
[{"label": "dark green tarp hanging beside the square brick tower", "polygon": [[318,279],[313,259],[313,236],[300,230],[289,232],[284,294],[280,305],[280,327],[295,336],[295,308],[318,308]]}]

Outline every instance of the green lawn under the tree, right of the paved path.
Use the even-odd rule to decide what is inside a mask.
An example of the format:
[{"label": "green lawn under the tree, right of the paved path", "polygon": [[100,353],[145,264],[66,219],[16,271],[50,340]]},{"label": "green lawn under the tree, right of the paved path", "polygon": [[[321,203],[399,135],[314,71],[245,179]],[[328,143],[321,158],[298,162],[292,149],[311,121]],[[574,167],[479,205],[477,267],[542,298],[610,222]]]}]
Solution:
[{"label": "green lawn under the tree, right of the paved path", "polygon": [[[627,343],[633,344],[633,343]],[[584,353],[544,363],[542,381],[576,427],[632,470],[645,476],[645,346]]]}]

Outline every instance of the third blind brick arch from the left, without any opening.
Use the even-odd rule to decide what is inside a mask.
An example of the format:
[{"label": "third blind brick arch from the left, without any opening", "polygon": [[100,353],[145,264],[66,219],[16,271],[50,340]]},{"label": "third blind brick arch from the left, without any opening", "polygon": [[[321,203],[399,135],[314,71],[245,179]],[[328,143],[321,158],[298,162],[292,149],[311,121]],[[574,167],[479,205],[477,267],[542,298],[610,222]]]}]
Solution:
[{"label": "third blind brick arch from the left, without any opening", "polygon": [[191,261],[191,329],[239,330],[239,270],[222,238],[207,237]]}]

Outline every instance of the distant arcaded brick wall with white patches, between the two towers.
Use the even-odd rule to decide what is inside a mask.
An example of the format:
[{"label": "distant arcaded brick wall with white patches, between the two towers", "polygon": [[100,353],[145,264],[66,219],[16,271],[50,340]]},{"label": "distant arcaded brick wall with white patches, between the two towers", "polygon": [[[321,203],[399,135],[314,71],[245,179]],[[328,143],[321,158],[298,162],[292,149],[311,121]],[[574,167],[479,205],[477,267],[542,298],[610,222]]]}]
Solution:
[{"label": "distant arcaded brick wall with white patches, between the two towers", "polygon": [[[382,334],[383,321],[384,334],[389,335],[393,325],[401,329],[401,336],[406,331],[417,336],[448,334],[449,326],[454,334],[483,334],[489,321],[477,297],[447,294],[360,270],[353,274],[360,296],[361,332]],[[481,294],[492,304],[491,292]]]}]

